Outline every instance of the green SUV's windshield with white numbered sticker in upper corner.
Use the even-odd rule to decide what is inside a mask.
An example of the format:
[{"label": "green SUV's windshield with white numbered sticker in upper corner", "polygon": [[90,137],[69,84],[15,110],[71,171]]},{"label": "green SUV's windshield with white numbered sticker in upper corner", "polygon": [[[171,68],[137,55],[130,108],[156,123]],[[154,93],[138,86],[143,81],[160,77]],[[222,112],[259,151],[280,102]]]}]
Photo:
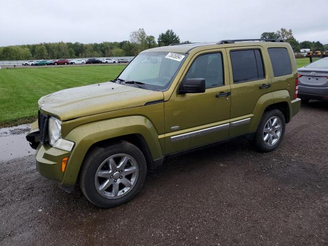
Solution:
[{"label": "green SUV's windshield with white numbered sticker in upper corner", "polygon": [[119,79],[144,83],[144,89],[166,91],[186,57],[185,53],[141,53],[119,75]]}]

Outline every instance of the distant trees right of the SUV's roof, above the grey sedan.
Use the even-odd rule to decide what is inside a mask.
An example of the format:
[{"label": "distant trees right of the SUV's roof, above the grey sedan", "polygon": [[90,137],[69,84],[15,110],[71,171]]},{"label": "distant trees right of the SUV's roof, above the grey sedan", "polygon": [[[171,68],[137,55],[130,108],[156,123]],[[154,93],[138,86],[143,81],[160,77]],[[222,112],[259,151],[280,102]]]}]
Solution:
[{"label": "distant trees right of the SUV's roof, above the grey sedan", "polygon": [[328,44],[323,45],[319,41],[298,42],[296,38],[293,36],[292,29],[287,30],[285,28],[281,28],[276,32],[263,32],[260,38],[269,38],[269,39],[282,38],[292,46],[294,52],[299,52],[300,49],[328,50]]}]

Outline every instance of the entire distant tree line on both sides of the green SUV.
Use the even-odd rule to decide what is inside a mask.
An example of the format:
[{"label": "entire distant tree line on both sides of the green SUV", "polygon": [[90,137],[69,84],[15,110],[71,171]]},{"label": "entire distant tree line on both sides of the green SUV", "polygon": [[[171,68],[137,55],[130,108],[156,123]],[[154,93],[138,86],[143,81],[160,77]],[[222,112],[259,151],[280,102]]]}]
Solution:
[{"label": "entire distant tree line on both sides of the green SUV", "polygon": [[[281,28],[276,32],[263,32],[261,38],[282,38],[290,43],[294,52],[300,49],[324,49],[328,50],[328,44],[319,41],[298,42],[293,36],[292,30]],[[179,36],[173,30],[167,30],[159,34],[157,40],[153,35],[147,35],[143,28],[131,32],[130,39],[122,42],[103,42],[93,44],[82,43],[42,43],[35,45],[17,45],[0,47],[0,60],[28,60],[28,59],[59,59],[78,57],[115,57],[135,56],[142,50],[167,46],[180,42]]]}]

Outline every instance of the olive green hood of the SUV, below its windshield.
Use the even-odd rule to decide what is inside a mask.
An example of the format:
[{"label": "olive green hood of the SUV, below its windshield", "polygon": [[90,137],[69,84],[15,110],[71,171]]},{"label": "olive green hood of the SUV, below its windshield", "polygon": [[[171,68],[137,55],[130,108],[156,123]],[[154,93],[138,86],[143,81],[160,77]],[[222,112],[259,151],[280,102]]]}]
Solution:
[{"label": "olive green hood of the SUV, below its windshield", "polygon": [[92,114],[144,106],[162,100],[163,93],[112,82],[75,87],[41,97],[40,111],[68,120]]}]

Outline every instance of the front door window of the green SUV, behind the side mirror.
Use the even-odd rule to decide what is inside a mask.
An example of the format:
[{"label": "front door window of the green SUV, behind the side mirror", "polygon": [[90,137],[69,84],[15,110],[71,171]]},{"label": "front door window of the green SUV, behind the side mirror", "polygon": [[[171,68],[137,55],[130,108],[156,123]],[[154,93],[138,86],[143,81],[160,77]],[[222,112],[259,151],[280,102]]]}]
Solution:
[{"label": "front door window of the green SUV, behind the side mirror", "polygon": [[221,53],[198,56],[189,68],[186,79],[204,78],[206,88],[223,85],[223,66]]}]

